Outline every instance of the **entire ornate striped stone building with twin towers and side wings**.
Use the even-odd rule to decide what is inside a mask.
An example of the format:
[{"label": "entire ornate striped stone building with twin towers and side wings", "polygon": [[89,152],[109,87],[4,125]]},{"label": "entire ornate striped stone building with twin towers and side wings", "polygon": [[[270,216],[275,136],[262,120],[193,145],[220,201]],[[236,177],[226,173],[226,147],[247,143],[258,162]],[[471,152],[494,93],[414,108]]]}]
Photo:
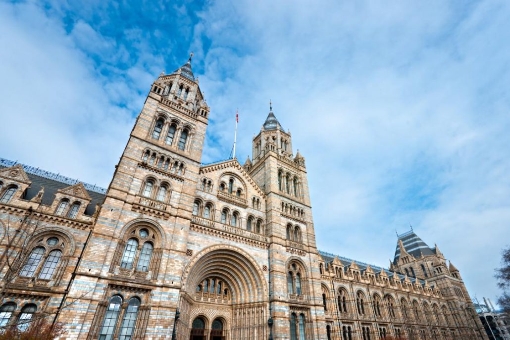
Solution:
[{"label": "entire ornate striped stone building with twin towers and side wings", "polygon": [[270,108],[252,159],[202,165],[190,60],[151,86],[107,190],[0,161],[0,327],[66,339],[485,338],[414,232],[382,269],[317,250],[303,156]]}]

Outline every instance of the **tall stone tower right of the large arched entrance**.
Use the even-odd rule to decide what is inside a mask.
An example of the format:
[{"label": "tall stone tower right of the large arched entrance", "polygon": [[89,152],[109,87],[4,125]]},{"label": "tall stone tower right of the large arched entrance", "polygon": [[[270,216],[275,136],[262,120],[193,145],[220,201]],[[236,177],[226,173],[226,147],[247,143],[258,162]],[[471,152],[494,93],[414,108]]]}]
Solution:
[{"label": "tall stone tower right of the large arched entrance", "polygon": [[307,334],[321,338],[325,321],[319,298],[320,258],[307,170],[299,151],[294,155],[291,134],[278,122],[271,104],[260,133],[253,138],[253,161],[247,160],[244,166],[266,195],[274,333],[288,334],[289,323],[291,329],[299,323],[300,332],[301,318],[305,318],[312,321],[305,323],[310,328]]}]

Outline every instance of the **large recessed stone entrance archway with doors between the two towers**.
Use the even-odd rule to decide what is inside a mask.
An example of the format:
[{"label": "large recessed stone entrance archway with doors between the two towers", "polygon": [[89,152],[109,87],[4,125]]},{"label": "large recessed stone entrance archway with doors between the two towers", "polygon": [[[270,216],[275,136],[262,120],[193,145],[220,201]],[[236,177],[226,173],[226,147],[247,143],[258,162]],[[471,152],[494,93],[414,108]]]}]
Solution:
[{"label": "large recessed stone entrance archway with doors between the two towers", "polygon": [[[267,338],[266,278],[244,250],[224,245],[202,250],[186,267],[182,287],[177,339]],[[205,321],[200,339],[192,326],[196,318]]]}]

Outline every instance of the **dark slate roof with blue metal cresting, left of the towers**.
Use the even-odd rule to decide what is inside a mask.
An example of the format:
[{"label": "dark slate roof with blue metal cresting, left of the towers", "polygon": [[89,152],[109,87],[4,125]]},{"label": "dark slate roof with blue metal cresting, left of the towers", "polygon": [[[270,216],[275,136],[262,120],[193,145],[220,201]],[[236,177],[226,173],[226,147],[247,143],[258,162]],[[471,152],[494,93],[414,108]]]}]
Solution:
[{"label": "dark slate roof with blue metal cresting, left of the towers", "polygon": [[[19,163],[0,159],[0,168],[7,168],[17,164]],[[27,173],[27,176],[32,181],[27,191],[25,192],[24,199],[26,200],[31,200],[34,198],[39,193],[39,190],[41,190],[41,186],[43,186],[44,195],[42,196],[41,203],[45,205],[51,205],[58,190],[65,189],[80,183],[79,180],[73,180],[69,177],[54,174],[39,168],[34,168],[23,164],[19,165],[23,167],[23,170]],[[47,177],[54,177],[54,179]],[[85,208],[85,215],[92,216],[94,214],[96,203],[103,203],[105,200],[106,189],[92,186],[87,183],[84,183],[84,186],[91,198],[90,203]]]}]

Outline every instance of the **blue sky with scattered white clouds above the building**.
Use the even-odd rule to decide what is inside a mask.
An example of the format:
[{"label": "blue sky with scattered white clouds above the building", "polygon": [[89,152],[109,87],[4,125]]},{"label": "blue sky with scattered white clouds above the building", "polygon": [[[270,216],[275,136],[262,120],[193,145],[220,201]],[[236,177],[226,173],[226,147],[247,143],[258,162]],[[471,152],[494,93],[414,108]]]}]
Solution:
[{"label": "blue sky with scattered white clouds above the building", "polygon": [[194,51],[203,163],[272,100],[318,248],[389,266],[413,226],[500,294],[510,244],[510,2],[0,1],[0,156],[107,187],[152,82]]}]

